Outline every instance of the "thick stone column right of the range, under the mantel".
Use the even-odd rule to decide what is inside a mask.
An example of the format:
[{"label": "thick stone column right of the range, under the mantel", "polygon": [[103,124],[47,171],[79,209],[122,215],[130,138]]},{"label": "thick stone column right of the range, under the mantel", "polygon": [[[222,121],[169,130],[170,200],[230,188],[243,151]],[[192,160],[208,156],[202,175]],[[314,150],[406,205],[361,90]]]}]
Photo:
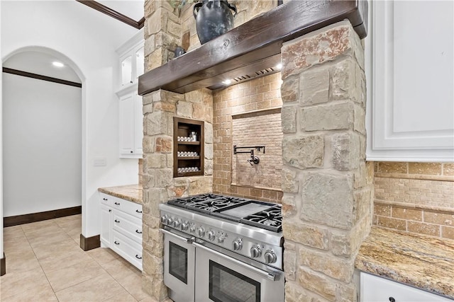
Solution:
[{"label": "thick stone column right of the range, under the mantel", "polygon": [[355,256],[370,231],[364,51],[348,21],[282,47],[286,301],[357,301]]}]

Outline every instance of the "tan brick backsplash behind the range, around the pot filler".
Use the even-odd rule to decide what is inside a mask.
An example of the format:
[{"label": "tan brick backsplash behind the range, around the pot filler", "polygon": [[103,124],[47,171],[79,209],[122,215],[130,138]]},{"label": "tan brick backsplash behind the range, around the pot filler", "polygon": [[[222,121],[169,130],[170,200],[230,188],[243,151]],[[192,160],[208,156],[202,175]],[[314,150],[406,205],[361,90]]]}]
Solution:
[{"label": "tan brick backsplash behind the range, around the pot filler", "polygon": [[[277,73],[213,93],[214,192],[281,202],[281,83]],[[255,150],[260,163],[250,166],[233,145],[265,145],[265,154]]]}]

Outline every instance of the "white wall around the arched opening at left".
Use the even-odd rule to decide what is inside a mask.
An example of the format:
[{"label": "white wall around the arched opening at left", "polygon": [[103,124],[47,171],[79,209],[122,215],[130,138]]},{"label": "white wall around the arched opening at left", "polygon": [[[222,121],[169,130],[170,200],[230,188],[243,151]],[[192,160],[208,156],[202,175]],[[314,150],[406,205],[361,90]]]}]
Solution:
[{"label": "white wall around the arched opening at left", "polygon": [[[138,181],[137,161],[118,158],[113,86],[115,50],[137,30],[77,1],[2,1],[1,29],[3,60],[23,47],[45,47],[70,61],[82,79],[82,234],[95,236],[98,187]],[[99,157],[106,166],[93,166]]]}]

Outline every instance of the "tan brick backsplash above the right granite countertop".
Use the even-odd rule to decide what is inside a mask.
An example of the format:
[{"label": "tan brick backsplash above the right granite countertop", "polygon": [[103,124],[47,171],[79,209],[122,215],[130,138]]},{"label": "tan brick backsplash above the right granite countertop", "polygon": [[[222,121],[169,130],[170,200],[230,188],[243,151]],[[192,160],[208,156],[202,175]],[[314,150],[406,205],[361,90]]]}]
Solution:
[{"label": "tan brick backsplash above the right granite countertop", "polygon": [[373,223],[454,240],[454,164],[375,163]]}]

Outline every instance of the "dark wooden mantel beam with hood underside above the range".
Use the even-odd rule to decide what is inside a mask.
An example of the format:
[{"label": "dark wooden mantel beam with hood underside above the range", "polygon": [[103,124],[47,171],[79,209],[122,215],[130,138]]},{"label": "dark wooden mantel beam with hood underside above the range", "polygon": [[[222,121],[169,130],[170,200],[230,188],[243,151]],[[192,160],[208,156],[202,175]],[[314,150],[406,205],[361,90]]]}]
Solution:
[{"label": "dark wooden mantel beam with hood underside above the range", "polygon": [[226,79],[235,83],[277,72],[282,43],[344,19],[365,37],[367,1],[289,1],[143,74],[138,93],[217,89]]}]

